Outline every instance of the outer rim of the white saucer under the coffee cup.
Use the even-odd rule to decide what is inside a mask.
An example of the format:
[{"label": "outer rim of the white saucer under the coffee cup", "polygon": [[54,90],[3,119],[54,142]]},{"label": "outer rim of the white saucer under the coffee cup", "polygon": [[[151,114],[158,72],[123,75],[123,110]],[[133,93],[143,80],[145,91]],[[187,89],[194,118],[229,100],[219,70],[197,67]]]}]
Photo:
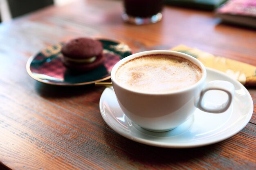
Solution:
[{"label": "outer rim of the white saucer under the coffee cup", "polygon": [[[99,101],[99,110],[100,110],[100,113],[101,113],[101,116],[103,118],[103,120],[106,122],[106,124],[112,129],[114,130],[115,132],[117,132],[119,135],[123,136],[123,137],[126,137],[127,139],[130,139],[132,141],[136,141],[138,143],[141,143],[141,144],[146,144],[146,145],[149,145],[149,146],[156,146],[156,147],[162,147],[162,148],[196,148],[196,147],[202,147],[202,146],[207,146],[207,145],[211,145],[211,144],[216,144],[220,141],[224,141],[234,135],[236,135],[238,132],[240,132],[250,121],[250,119],[252,118],[252,115],[253,115],[253,109],[254,109],[254,105],[253,105],[253,100],[252,100],[252,96],[250,95],[249,91],[247,90],[247,88],[245,88],[245,86],[243,86],[243,84],[241,84],[240,82],[238,82],[236,79],[232,78],[232,77],[229,77],[227,74],[221,72],[221,71],[218,71],[218,70],[215,70],[213,68],[209,68],[209,67],[206,67],[206,70],[208,71],[212,71],[212,72],[215,72],[217,74],[221,74],[225,77],[228,77],[230,79],[233,79],[236,83],[238,83],[238,85],[240,87],[242,87],[245,92],[247,93],[247,97],[248,97],[248,100],[250,101],[250,108],[249,108],[249,111],[248,111],[248,114],[243,122],[243,124],[241,126],[239,126],[238,128],[236,128],[236,130],[234,130],[233,132],[231,132],[230,134],[224,136],[224,137],[221,137],[217,140],[213,140],[213,141],[208,141],[208,142],[199,142],[199,143],[191,143],[191,144],[179,144],[179,143],[172,143],[172,144],[163,144],[163,143],[159,143],[157,141],[150,141],[148,139],[144,139],[144,138],[140,138],[140,137],[133,137],[132,135],[129,135],[128,133],[126,132],[123,132],[122,130],[119,130],[119,129],[115,129],[111,126],[110,122],[108,122],[108,119],[107,117],[105,117],[104,115],[106,115],[104,112],[103,112],[103,108],[101,107],[103,102],[102,102],[102,96],[103,96],[103,93],[108,90],[110,87],[107,87],[103,93],[101,94],[101,98],[100,98],[100,101]],[[127,117],[128,118],[128,117]],[[133,128],[135,128],[133,126]],[[136,129],[136,128],[135,128]],[[142,132],[143,133],[143,132]]]}]

